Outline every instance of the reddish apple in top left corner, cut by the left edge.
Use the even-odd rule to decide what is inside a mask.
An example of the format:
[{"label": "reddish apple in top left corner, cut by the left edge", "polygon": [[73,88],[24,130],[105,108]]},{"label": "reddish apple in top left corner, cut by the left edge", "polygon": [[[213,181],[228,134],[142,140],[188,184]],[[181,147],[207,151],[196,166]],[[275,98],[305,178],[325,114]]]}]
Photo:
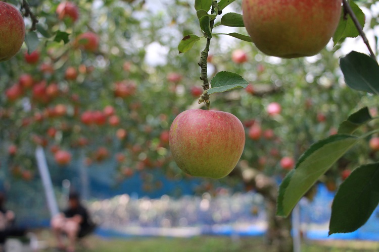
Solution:
[{"label": "reddish apple in top left corner, cut by the left edge", "polygon": [[25,39],[25,23],[19,10],[0,1],[0,62],[13,57]]}]

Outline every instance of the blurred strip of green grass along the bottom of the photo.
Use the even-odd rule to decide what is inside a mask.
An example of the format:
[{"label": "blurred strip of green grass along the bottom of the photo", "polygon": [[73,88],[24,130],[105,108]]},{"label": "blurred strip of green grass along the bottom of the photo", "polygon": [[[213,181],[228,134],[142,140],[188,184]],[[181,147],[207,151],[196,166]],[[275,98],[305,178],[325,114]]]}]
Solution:
[{"label": "blurred strip of green grass along the bottom of the photo", "polygon": [[[38,231],[38,238],[48,242],[50,248],[43,251],[54,251],[55,241],[49,230]],[[232,239],[227,236],[195,236],[191,238],[169,237],[134,237],[129,239],[105,239],[91,235],[83,240],[77,251],[93,252],[232,252],[264,251],[274,252],[273,248],[264,245],[263,237],[240,237]],[[371,241],[308,241],[303,242],[302,252],[353,252],[379,251],[379,242]]]}]

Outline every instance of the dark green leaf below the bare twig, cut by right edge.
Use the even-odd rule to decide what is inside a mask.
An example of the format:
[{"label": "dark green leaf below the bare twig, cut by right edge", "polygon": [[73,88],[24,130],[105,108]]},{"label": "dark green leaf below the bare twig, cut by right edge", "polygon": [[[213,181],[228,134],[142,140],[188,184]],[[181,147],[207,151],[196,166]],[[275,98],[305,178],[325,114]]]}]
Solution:
[{"label": "dark green leaf below the bare twig, cut by right edge", "polygon": [[352,51],[341,58],[340,65],[350,88],[379,94],[379,66],[370,56]]}]

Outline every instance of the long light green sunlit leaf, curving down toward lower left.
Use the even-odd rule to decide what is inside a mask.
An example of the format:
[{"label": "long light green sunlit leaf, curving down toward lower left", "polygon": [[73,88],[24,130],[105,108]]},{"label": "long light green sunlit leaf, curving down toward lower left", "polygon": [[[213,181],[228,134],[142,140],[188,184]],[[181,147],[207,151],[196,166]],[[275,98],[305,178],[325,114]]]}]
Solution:
[{"label": "long light green sunlit leaf, curving down toward lower left", "polygon": [[299,158],[279,186],[276,214],[287,217],[309,188],[358,141],[351,135],[333,135],[313,144]]}]

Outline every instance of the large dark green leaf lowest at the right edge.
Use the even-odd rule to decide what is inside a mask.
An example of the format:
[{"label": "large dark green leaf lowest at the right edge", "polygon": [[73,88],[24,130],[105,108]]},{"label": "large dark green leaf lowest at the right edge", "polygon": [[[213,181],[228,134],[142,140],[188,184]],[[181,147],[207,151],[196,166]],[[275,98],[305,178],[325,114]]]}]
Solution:
[{"label": "large dark green leaf lowest at the right edge", "polygon": [[331,205],[329,235],[357,230],[379,203],[379,163],[356,168],[340,185]]}]

